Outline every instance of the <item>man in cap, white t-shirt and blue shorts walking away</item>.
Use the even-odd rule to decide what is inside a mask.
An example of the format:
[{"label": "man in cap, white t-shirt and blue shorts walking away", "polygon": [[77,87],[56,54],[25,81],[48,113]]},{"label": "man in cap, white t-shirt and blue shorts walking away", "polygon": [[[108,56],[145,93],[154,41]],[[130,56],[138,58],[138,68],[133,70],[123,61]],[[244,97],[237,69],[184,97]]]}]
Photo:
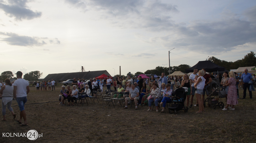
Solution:
[{"label": "man in cap, white t-shirt and blue shorts walking away", "polygon": [[[20,110],[20,117],[17,122],[20,123],[20,126],[27,126],[27,118],[26,118],[26,112],[24,105],[27,102],[27,94],[29,93],[29,86],[28,82],[22,78],[22,72],[18,71],[16,73],[17,75],[17,80],[14,81],[13,83],[13,97],[16,99],[18,105],[19,105],[19,110]],[[22,124],[22,118],[24,120],[24,123]]]}]

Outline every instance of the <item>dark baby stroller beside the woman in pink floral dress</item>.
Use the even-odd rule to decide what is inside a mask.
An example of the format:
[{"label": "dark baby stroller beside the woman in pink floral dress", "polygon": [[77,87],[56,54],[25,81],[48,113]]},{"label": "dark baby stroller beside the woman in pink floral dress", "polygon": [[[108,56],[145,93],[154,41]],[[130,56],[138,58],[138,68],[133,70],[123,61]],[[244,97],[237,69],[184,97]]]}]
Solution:
[{"label": "dark baby stroller beside the woman in pink floral dress", "polygon": [[220,108],[223,108],[224,103],[219,102],[219,99],[226,97],[225,87],[218,87],[217,88],[217,84],[212,83],[211,86],[209,86],[207,88],[207,90],[210,93],[209,96],[205,99],[205,102],[208,102],[208,106],[211,107],[212,109],[215,109],[216,106],[219,106]]}]

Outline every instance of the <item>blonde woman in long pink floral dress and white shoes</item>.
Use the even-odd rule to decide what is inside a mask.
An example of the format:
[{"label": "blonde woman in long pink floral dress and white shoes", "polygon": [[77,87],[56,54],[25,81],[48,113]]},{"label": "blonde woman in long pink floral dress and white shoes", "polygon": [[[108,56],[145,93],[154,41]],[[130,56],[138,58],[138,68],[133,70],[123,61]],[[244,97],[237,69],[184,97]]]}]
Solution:
[{"label": "blonde woman in long pink floral dress and white shoes", "polygon": [[[224,107],[222,110],[235,110],[235,105],[238,104],[237,101],[237,90],[236,90],[236,76],[233,71],[229,72],[229,81],[225,86],[229,86],[228,88],[228,97],[227,97],[227,106]],[[232,107],[231,107],[232,105]],[[228,107],[229,106],[229,107]]]}]

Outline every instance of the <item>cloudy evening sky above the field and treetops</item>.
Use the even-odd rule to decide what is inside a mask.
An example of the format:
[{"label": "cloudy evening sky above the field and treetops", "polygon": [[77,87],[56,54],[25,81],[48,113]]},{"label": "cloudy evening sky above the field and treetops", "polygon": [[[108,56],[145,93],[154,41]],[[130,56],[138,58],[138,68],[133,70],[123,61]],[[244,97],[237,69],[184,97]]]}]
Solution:
[{"label": "cloudy evening sky above the field and treetops", "polygon": [[0,73],[126,75],[168,67],[169,50],[194,66],[255,49],[255,0],[0,0]]}]

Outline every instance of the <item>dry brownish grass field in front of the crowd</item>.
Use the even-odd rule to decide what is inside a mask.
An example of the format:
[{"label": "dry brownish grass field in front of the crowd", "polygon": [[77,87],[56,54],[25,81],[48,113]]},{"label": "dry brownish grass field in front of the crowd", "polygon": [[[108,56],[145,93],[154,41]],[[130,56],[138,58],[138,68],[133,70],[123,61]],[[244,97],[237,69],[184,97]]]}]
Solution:
[{"label": "dry brownish grass field in front of the crowd", "polygon": [[[103,88],[104,89],[104,88]],[[205,108],[197,114],[198,107],[187,113],[146,111],[148,107],[121,109],[102,108],[102,101],[84,106],[60,106],[57,101],[61,87],[56,91],[37,92],[30,87],[25,111],[28,126],[19,126],[12,114],[0,123],[0,142],[255,142],[256,112],[255,91],[253,99],[238,100],[235,110]],[[240,98],[242,90],[239,90]],[[195,104],[194,98],[194,104]],[[221,99],[225,103],[225,99]],[[1,102],[2,103],[2,102]],[[19,107],[12,106],[19,119]],[[2,106],[2,104],[0,104]],[[226,105],[226,103],[225,103]],[[1,114],[2,116],[2,114]],[[1,118],[2,119],[2,118]],[[2,133],[27,133],[36,130],[42,137],[30,141],[27,137],[3,137]]]}]

